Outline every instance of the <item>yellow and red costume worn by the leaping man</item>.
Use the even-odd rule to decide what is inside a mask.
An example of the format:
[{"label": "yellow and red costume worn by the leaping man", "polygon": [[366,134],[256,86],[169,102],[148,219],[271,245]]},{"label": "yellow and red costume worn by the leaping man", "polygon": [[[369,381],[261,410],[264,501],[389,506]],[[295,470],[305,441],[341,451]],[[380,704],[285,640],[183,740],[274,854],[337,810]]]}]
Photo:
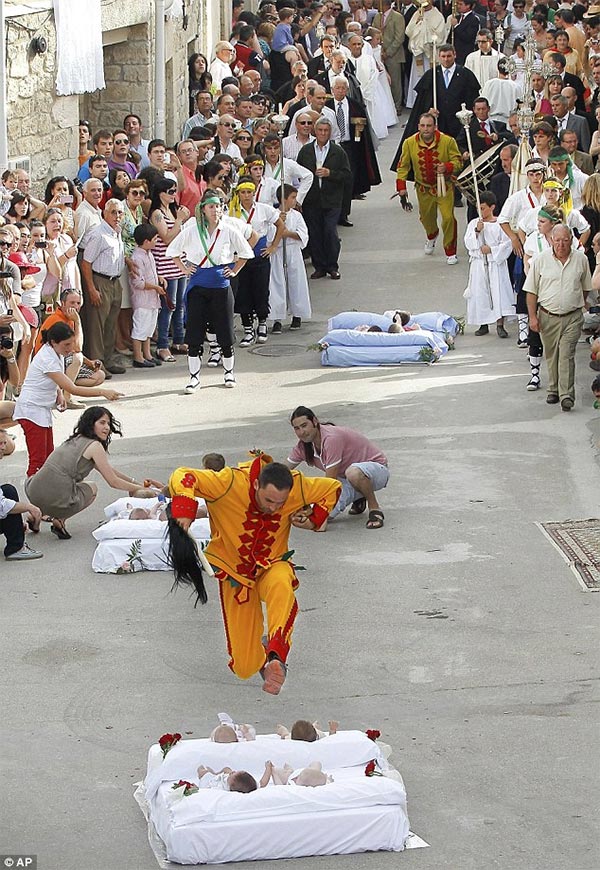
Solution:
[{"label": "yellow and red costume worn by the leaping man", "polygon": [[[254,484],[271,461],[263,453],[222,471],[178,468],[169,480],[174,517],[195,516],[191,499],[196,496],[206,501],[211,539],[204,555],[219,580],[229,667],[243,680],[260,671],[270,653],[285,663],[290,650],[298,612],[298,580],[288,561],[291,517],[312,506],[309,516],[318,528],[341,492],[337,480],[292,471],[294,483],[281,511],[263,513]],[[266,651],[262,602],[267,610]]]}]

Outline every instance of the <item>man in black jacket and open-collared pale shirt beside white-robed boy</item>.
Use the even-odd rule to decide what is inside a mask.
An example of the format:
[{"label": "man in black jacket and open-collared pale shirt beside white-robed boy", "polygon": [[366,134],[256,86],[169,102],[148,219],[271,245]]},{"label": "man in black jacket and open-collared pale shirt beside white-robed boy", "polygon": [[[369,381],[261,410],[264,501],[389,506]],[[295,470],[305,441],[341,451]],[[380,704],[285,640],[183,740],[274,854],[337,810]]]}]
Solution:
[{"label": "man in black jacket and open-collared pale shirt beside white-robed boy", "polygon": [[350,164],[342,148],[331,141],[331,122],[321,116],[315,122],[315,141],[304,145],[298,154],[301,166],[314,174],[311,189],[302,204],[308,227],[314,272],[312,279],[340,278],[340,237],[337,223],[344,199],[344,186],[350,177]]}]

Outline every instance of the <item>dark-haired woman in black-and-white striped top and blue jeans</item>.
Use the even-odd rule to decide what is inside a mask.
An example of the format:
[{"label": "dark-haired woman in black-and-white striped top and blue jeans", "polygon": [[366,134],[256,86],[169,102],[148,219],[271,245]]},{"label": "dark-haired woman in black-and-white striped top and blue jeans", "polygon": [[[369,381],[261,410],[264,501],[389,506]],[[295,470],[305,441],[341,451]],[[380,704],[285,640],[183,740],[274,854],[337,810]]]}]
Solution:
[{"label": "dark-haired woman in black-and-white striped top and blue jeans", "polygon": [[167,281],[167,295],[161,296],[161,309],[158,315],[158,340],[156,357],[161,362],[175,362],[169,349],[169,326],[172,325],[172,347],[174,353],[187,353],[183,348],[183,296],[185,293],[186,273],[167,257],[167,246],[181,232],[181,227],[190,213],[185,206],[175,204],[177,183],[170,178],[157,181],[150,203],[150,223],[158,231],[158,239],[152,256],[156,263],[159,278]]}]

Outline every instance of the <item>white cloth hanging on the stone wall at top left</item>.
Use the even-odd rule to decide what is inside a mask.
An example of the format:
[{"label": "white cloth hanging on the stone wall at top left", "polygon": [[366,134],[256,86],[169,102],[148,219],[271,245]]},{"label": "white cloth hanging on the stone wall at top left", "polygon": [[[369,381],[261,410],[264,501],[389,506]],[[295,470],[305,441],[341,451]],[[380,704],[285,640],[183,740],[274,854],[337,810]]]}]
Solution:
[{"label": "white cloth hanging on the stone wall at top left", "polygon": [[104,88],[100,0],[54,0],[60,96]]}]

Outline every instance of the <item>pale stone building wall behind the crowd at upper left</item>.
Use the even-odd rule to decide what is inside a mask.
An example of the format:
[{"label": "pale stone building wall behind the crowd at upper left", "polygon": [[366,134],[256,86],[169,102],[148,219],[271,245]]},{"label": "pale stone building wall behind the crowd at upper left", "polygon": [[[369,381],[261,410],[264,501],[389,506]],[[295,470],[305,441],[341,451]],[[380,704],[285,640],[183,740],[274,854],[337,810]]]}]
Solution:
[{"label": "pale stone building wall behind the crowd at upper left", "polygon": [[[50,5],[50,4],[48,4]],[[187,58],[210,49],[229,27],[230,0],[188,0],[187,30],[168,18],[166,39],[167,141],[175,142],[187,118]],[[7,116],[9,158],[31,158],[37,191],[54,174],[73,177],[78,168],[78,122],[113,129],[127,112],[140,115],[144,136],[154,124],[154,2],[113,0],[102,4],[106,88],[93,94],[56,94],[56,32],[48,10],[10,17],[7,11]],[[30,51],[32,36],[48,50]],[[36,183],[37,182],[37,183]]]}]

